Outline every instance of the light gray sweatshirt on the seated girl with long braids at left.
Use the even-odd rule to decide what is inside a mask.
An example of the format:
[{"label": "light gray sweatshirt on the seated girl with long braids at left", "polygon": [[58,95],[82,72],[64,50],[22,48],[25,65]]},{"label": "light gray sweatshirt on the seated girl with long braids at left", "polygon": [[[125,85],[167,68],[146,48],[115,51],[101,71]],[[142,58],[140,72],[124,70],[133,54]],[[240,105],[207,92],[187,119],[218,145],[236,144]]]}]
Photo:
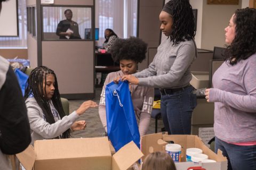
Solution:
[{"label": "light gray sweatshirt on the seated girl with long braids at left", "polygon": [[27,98],[26,106],[28,109],[28,119],[32,137],[31,144],[33,145],[35,140],[52,139],[58,137],[63,132],[68,130],[79,117],[74,111],[68,116],[62,117],[61,120],[50,124],[45,121],[43,111],[37,104],[35,98]]}]

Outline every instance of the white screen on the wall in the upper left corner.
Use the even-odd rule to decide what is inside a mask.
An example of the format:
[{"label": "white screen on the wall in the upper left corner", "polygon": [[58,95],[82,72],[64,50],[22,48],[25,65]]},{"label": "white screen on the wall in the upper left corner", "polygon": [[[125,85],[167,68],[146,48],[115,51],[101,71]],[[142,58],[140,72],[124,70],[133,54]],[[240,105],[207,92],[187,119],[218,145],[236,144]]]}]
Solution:
[{"label": "white screen on the wall in the upper left corner", "polygon": [[19,36],[18,24],[18,0],[9,0],[2,3],[0,14],[0,36],[17,37]]}]

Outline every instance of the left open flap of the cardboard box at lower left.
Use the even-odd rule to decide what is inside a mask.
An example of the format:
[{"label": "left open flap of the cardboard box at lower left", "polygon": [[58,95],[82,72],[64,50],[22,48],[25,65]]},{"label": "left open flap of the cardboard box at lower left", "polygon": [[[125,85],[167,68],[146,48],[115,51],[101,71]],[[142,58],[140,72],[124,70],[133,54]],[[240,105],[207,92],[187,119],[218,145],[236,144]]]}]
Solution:
[{"label": "left open flap of the cardboard box at lower left", "polygon": [[34,166],[36,160],[36,154],[34,151],[33,146],[29,145],[27,149],[19,154],[16,154],[17,158],[19,159],[21,165],[25,167],[26,170],[31,170]]}]

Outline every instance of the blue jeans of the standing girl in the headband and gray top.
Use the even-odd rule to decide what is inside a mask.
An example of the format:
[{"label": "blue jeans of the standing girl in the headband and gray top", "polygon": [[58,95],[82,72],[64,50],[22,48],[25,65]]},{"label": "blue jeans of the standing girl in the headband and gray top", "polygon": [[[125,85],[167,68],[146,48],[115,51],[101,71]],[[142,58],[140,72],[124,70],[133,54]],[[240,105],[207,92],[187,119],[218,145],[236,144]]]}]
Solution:
[{"label": "blue jeans of the standing girl in the headband and gray top", "polygon": [[192,86],[172,94],[161,94],[161,115],[169,134],[190,134],[191,116],[196,107],[196,95]]}]

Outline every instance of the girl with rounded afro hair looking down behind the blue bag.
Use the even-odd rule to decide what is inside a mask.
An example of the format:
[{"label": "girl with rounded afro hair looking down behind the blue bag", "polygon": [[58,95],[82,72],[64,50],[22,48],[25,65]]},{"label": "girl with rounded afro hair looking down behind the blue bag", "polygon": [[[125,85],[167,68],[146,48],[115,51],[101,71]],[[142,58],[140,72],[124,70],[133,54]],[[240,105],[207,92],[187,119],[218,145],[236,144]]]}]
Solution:
[{"label": "girl with rounded afro hair looking down behind the blue bag", "polygon": [[[114,61],[120,63],[121,71],[108,74],[101,92],[99,115],[103,127],[107,132],[105,87],[116,77],[133,74],[137,71],[137,64],[146,58],[147,44],[141,39],[131,37],[128,39],[117,39],[110,49]],[[132,85],[130,86],[131,97],[135,116],[139,120],[140,136],[147,133],[152,105],[154,100],[154,88]]]}]

